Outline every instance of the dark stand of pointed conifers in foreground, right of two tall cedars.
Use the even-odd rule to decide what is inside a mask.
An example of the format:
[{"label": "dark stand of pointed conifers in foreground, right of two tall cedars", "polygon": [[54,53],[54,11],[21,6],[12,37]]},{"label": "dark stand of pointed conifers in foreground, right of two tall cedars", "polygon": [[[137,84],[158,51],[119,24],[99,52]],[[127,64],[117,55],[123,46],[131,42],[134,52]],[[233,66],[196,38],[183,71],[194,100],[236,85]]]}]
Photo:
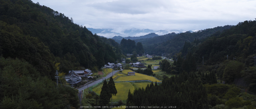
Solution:
[{"label": "dark stand of pointed conifers in foreground, right of two tall cedars", "polygon": [[[167,106],[181,109],[209,109],[207,93],[195,73],[181,73],[147,87],[129,91],[126,106]],[[174,107],[176,106],[176,107]],[[135,108],[134,108],[135,109]]]}]

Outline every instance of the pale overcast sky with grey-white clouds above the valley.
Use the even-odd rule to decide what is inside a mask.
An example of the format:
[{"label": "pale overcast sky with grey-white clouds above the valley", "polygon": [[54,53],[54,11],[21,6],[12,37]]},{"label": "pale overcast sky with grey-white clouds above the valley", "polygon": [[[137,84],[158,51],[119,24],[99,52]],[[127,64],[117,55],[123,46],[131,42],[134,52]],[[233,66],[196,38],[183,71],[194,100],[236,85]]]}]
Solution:
[{"label": "pale overcast sky with grey-white clouds above the valley", "polygon": [[255,20],[255,0],[32,0],[87,28],[199,30]]}]

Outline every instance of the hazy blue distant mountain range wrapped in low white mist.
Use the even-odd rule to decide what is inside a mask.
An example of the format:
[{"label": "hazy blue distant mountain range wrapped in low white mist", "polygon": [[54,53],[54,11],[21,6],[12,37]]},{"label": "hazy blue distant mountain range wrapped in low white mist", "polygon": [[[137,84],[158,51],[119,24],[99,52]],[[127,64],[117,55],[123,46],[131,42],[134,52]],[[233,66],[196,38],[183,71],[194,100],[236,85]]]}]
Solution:
[{"label": "hazy blue distant mountain range wrapped in low white mist", "polygon": [[[137,29],[137,28],[131,28],[131,29],[125,29],[121,32],[116,32],[114,29],[94,29],[94,28],[87,28],[89,31],[91,31],[93,34],[97,34],[99,36],[104,36],[107,38],[112,38],[114,36],[115,39],[117,37],[121,38],[121,37],[139,37],[139,36],[146,36],[148,37],[154,37],[154,36],[158,36],[158,35],[166,35],[168,33],[183,33],[186,32],[185,30],[181,29],[181,30],[176,30],[176,29],[165,29],[165,30],[158,30],[158,31],[154,31],[152,29]],[[190,31],[193,32],[193,31]],[[151,33],[155,33],[155,34],[151,34]],[[123,38],[122,38],[123,39]],[[136,39],[136,38],[135,38]],[[140,38],[139,38],[140,39]]]}]

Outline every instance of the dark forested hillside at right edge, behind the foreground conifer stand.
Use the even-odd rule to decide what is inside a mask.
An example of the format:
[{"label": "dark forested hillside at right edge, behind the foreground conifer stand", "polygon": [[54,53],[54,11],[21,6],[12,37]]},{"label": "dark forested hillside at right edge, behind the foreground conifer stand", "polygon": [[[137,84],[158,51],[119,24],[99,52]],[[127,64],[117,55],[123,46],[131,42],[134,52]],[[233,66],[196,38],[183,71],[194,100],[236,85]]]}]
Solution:
[{"label": "dark forested hillside at right edge, behind the foreground conifer stand", "polygon": [[[214,70],[217,77],[226,84],[240,85],[255,92],[256,68],[253,58],[256,55],[255,33],[255,20],[240,22],[207,39],[186,42],[177,55],[188,58],[187,53],[193,54],[198,69]],[[177,65],[173,68],[177,68]]]}]

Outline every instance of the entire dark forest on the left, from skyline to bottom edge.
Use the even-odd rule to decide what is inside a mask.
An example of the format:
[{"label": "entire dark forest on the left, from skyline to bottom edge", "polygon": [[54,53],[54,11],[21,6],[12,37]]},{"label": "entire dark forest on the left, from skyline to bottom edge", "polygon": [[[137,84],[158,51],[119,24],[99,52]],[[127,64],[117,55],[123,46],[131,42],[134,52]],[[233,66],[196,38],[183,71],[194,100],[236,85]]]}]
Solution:
[{"label": "entire dark forest on the left, from skyline to bottom edge", "polygon": [[56,86],[54,72],[96,72],[122,57],[120,45],[72,17],[31,0],[0,0],[1,109],[78,108],[78,91]]}]

